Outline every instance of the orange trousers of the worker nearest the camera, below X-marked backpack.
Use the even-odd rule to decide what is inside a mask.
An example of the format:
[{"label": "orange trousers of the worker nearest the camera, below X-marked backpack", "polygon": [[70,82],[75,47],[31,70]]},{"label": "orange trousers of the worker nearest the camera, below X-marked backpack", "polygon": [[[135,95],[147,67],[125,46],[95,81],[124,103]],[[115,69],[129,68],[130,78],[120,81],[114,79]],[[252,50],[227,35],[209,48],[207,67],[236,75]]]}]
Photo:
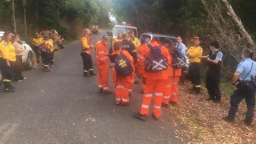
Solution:
[{"label": "orange trousers of the worker nearest the camera, below X-marked backpack", "polygon": [[151,98],[153,97],[154,91],[154,108],[153,114],[157,118],[161,115],[161,104],[163,99],[163,91],[165,90],[165,79],[146,79],[146,83],[143,87],[143,102],[141,106],[141,114],[148,114],[148,107],[151,102]]}]

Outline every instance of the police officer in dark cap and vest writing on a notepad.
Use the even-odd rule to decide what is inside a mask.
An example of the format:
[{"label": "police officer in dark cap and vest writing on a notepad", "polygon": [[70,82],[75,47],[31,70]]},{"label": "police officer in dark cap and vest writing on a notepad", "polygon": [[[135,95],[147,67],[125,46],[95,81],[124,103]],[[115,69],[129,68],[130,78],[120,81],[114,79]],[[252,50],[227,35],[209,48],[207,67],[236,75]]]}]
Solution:
[{"label": "police officer in dark cap and vest writing on a notepad", "polygon": [[210,54],[204,57],[208,61],[209,68],[206,72],[205,83],[210,97],[206,100],[213,100],[214,103],[221,102],[219,84],[221,83],[221,61],[223,54],[218,48],[219,43],[217,41],[210,42]]}]

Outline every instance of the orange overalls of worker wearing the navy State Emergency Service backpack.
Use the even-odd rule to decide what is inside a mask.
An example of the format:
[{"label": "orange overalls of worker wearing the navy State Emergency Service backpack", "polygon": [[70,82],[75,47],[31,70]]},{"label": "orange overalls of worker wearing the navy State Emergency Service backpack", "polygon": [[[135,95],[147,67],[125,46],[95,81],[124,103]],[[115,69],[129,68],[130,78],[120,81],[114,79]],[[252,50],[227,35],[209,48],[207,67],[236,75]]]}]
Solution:
[{"label": "orange overalls of worker wearing the navy State Emergency Service backpack", "polygon": [[[111,55],[117,54],[120,55],[121,50],[114,51]],[[129,52],[123,50],[123,54],[129,59],[130,64],[132,65],[134,59],[129,54]],[[112,77],[115,86],[115,99],[116,103],[128,103],[129,102],[129,88],[131,87],[131,76],[119,77],[115,71],[115,63],[111,63],[112,68]]]}]

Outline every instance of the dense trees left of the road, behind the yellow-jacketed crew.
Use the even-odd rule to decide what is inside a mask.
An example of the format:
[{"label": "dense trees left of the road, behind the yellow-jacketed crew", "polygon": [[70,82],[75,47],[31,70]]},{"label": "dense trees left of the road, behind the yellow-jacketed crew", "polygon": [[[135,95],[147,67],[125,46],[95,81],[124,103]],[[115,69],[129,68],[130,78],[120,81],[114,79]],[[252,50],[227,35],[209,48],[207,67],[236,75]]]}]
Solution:
[{"label": "dense trees left of the road, behind the yellow-jacketed crew", "polygon": [[[56,29],[61,35],[76,38],[83,28],[107,26],[110,0],[25,0],[28,34]],[[14,0],[17,33],[24,35],[22,0]],[[0,30],[13,31],[10,0],[0,0]]]}]

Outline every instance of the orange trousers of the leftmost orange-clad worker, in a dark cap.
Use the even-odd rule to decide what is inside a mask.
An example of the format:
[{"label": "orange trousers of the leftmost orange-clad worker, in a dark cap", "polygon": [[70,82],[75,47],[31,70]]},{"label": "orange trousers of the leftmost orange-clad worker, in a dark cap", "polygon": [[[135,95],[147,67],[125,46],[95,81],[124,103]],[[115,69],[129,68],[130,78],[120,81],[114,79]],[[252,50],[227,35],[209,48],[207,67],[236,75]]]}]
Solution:
[{"label": "orange trousers of the leftmost orange-clad worker, in a dark cap", "polygon": [[106,65],[98,65],[98,89],[108,91],[108,63]]}]

